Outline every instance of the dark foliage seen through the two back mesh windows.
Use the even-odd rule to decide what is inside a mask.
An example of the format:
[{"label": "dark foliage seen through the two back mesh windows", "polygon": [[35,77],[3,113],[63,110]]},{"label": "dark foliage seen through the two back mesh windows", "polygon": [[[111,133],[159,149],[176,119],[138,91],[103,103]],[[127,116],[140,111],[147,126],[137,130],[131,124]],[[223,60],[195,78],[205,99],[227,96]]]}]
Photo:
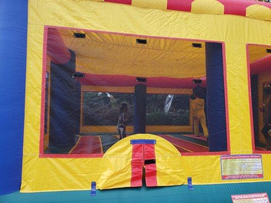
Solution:
[{"label": "dark foliage seen through the two back mesh windows", "polygon": [[[164,106],[168,94],[147,94],[147,125],[188,125],[189,95],[175,94],[168,113]],[[84,92],[83,125],[116,125],[121,103],[128,104],[129,125],[133,125],[133,94],[111,92]]]}]

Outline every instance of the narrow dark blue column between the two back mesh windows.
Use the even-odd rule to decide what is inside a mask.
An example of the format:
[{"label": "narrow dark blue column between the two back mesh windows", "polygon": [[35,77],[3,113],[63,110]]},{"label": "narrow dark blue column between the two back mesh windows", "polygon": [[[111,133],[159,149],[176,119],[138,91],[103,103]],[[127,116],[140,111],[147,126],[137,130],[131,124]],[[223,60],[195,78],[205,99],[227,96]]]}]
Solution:
[{"label": "narrow dark blue column between the two back mesh windows", "polygon": [[146,126],[146,91],[144,84],[135,85],[134,94],[134,133],[145,133]]}]

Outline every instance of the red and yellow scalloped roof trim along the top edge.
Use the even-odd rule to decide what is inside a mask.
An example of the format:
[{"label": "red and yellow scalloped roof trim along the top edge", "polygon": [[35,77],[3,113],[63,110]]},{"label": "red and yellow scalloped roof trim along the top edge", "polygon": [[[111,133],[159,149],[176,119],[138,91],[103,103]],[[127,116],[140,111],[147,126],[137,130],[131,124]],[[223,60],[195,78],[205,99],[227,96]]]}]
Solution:
[{"label": "red and yellow scalloped roof trim along the top edge", "polygon": [[[97,1],[97,0],[96,0]],[[202,14],[228,14],[271,21],[271,4],[255,0],[98,0],[137,7]]]}]

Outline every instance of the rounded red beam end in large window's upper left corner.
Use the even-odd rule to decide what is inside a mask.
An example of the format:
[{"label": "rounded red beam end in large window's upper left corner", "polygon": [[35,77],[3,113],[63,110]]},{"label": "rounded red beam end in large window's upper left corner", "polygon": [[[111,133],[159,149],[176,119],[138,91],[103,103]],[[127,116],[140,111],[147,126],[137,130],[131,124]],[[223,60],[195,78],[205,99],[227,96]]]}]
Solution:
[{"label": "rounded red beam end in large window's upper left corner", "polygon": [[48,28],[47,55],[56,64],[65,64],[71,59],[71,52],[66,47],[57,29]]}]

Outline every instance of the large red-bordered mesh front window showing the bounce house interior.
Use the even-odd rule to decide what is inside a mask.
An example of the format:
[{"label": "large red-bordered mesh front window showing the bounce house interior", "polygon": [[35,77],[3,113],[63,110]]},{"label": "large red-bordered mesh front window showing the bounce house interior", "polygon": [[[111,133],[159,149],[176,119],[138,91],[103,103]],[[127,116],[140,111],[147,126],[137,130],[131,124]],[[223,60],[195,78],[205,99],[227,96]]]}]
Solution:
[{"label": "large red-bordered mesh front window showing the bounce house interior", "polygon": [[45,29],[44,154],[103,154],[152,133],[182,153],[227,151],[223,45]]}]

